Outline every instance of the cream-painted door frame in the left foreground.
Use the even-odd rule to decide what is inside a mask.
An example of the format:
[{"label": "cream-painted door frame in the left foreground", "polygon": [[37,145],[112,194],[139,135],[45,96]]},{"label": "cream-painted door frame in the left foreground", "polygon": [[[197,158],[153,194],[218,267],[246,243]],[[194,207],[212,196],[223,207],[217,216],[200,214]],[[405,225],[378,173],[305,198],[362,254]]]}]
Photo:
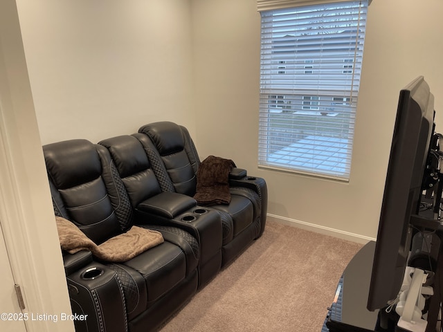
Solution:
[{"label": "cream-painted door frame in the left foreground", "polygon": [[[2,312],[12,307],[14,311],[10,312],[20,312],[15,294],[18,284],[24,298],[23,313],[29,317],[33,313],[60,317],[60,313],[70,313],[71,306],[41,147],[15,0],[2,0],[0,242],[4,236],[13,282],[9,279],[1,283],[0,307]],[[24,331],[25,325],[29,332],[74,331],[73,322],[54,324],[31,319],[0,322],[0,329]]]}]

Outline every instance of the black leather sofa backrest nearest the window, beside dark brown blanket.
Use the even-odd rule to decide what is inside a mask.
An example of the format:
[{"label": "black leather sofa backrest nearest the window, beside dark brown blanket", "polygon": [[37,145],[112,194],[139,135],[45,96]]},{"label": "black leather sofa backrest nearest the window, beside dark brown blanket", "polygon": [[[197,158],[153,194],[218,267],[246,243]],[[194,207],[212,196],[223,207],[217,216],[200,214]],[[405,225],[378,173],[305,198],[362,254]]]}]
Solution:
[{"label": "black leather sofa backrest nearest the window, beside dark brown blanket", "polygon": [[200,160],[188,129],[174,122],[163,121],[146,124],[138,129],[138,133],[145,135],[134,135],[143,147],[153,150],[151,162],[156,163],[155,159],[159,159],[163,164],[157,170],[157,178],[164,177],[175,192],[194,196]]}]

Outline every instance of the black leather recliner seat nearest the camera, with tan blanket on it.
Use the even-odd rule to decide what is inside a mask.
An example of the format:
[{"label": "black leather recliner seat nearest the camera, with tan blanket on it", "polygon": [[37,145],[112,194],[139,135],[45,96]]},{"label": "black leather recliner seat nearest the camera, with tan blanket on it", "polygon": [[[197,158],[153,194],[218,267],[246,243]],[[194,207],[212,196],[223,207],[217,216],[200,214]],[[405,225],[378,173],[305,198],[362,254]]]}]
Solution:
[{"label": "black leather recliner seat nearest the camera, with tan blanket on it", "polygon": [[[105,147],[69,140],[45,145],[44,157],[56,215],[97,244],[133,225],[129,196]],[[77,331],[150,331],[195,294],[197,239],[179,228],[159,231],[163,243],[121,264],[84,250],[64,252],[73,311],[88,315],[75,322]],[[85,278],[91,269],[102,275]]]}]

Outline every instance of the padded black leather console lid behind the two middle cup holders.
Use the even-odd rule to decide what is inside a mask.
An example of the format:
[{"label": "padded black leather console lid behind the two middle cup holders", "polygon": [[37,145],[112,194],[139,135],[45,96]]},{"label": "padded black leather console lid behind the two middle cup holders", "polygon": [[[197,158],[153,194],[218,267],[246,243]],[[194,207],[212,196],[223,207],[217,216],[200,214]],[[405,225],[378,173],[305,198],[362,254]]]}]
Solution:
[{"label": "padded black leather console lid behind the two middle cup holders", "polygon": [[177,192],[161,192],[138,204],[137,210],[166,219],[174,219],[175,216],[190,210],[195,205],[197,205],[197,201],[190,196]]}]

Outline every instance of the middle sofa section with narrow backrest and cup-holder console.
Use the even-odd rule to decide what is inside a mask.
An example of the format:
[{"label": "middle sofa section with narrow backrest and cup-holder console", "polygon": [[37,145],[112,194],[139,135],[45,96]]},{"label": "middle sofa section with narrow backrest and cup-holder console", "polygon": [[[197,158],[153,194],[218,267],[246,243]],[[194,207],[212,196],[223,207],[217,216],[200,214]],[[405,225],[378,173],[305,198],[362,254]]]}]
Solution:
[{"label": "middle sofa section with narrow backrest and cup-holder console", "polygon": [[98,144],[106,147],[114,160],[134,208],[135,223],[149,222],[156,230],[179,225],[190,232],[200,246],[199,286],[213,279],[221,268],[220,216],[197,206],[190,196],[163,192],[143,145],[134,136],[117,136]]}]

